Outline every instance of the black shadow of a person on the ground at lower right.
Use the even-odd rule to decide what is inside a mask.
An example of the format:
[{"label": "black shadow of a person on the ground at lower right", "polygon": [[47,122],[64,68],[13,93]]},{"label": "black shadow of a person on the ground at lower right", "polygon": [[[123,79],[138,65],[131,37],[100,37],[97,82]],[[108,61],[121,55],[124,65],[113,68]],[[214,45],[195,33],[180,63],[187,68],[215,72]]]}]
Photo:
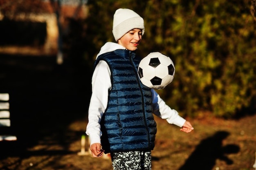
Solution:
[{"label": "black shadow of a person on the ground at lower right", "polygon": [[237,153],[240,148],[233,144],[222,146],[222,141],[228,135],[229,132],[218,131],[213,136],[203,139],[179,170],[212,170],[217,159],[229,165],[233,164],[226,155]]}]

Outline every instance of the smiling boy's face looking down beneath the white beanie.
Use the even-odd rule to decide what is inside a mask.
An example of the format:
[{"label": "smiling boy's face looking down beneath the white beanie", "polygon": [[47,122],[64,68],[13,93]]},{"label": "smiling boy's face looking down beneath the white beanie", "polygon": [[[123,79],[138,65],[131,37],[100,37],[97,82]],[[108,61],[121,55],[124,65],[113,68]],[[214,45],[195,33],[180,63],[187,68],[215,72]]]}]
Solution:
[{"label": "smiling boy's face looking down beneath the white beanie", "polygon": [[132,29],[118,40],[118,44],[130,51],[135,51],[142,38],[141,29]]}]

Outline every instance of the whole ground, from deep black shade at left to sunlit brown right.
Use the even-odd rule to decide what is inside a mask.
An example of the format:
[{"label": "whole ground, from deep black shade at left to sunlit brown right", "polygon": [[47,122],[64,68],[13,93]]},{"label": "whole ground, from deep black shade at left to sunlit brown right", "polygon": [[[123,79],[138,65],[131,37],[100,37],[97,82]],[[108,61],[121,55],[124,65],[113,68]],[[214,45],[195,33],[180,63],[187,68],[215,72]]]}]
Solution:
[{"label": "whole ground, from deep black shade at left to sunlit brown right", "polygon": [[[87,122],[90,75],[54,61],[0,56],[0,93],[10,94],[9,132],[18,138],[0,142],[0,170],[111,170],[108,156],[78,155]],[[235,120],[207,113],[200,119],[188,118],[195,128],[189,134],[155,119],[153,170],[254,170],[255,114]]]}]

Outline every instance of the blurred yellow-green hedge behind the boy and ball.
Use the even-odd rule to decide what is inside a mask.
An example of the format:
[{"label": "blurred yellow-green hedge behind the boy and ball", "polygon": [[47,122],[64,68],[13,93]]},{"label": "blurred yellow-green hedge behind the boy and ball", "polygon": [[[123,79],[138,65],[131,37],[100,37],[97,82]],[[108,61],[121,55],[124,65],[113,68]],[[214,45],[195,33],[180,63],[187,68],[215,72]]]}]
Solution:
[{"label": "blurred yellow-green hedge behind the boy and ball", "polygon": [[183,116],[201,116],[210,111],[219,117],[234,117],[256,96],[256,22],[250,13],[252,2],[91,1],[85,24],[93,27],[88,29],[89,38],[99,50],[106,41],[114,41],[111,31],[115,10],[135,10],[144,18],[146,28],[138,53],[146,56],[159,51],[175,64],[173,82],[157,91],[166,103]]}]

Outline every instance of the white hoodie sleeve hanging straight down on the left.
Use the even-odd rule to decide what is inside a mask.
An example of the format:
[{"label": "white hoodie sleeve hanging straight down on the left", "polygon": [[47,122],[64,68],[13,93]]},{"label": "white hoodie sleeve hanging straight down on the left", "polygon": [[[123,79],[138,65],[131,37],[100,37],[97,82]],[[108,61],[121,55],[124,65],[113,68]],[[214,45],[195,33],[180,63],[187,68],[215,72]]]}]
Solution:
[{"label": "white hoodie sleeve hanging straight down on the left", "polygon": [[108,91],[111,88],[110,69],[105,61],[100,61],[92,74],[92,96],[88,110],[86,134],[90,144],[101,143],[100,121],[108,105]]}]

